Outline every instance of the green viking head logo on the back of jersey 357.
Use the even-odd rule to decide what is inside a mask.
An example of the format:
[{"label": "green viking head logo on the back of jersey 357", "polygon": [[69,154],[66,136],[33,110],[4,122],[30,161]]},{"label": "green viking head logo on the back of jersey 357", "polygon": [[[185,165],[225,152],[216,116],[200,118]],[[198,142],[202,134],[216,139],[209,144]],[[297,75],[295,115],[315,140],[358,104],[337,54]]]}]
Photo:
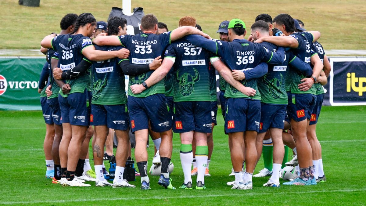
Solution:
[{"label": "green viking head logo on the back of jersey 357", "polygon": [[189,73],[184,73],[179,77],[179,69],[176,75],[176,82],[179,84],[179,92],[183,96],[189,96],[194,92],[194,83],[199,81],[199,73],[197,69],[193,68],[194,76]]}]

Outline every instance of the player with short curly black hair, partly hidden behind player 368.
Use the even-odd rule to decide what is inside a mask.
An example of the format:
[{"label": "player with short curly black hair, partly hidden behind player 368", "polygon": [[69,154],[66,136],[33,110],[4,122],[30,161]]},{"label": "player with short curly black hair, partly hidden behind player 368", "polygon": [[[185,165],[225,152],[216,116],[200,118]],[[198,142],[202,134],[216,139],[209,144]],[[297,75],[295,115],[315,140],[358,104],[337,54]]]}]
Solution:
[{"label": "player with short curly black hair, partly hidden behind player 368", "polygon": [[[69,34],[74,31],[75,22],[78,18],[76,14],[66,14],[60,22],[61,32],[60,34]],[[47,103],[51,107],[52,111],[52,119],[53,119],[53,126],[55,128],[55,138],[52,144],[52,156],[53,161],[55,163],[55,173],[52,179],[52,183],[59,183],[61,180],[62,172],[61,172],[61,165],[60,165],[60,156],[59,156],[59,146],[62,137],[62,124],[61,124],[61,111],[60,105],[58,101],[58,92],[60,91],[60,86],[64,85],[65,83],[60,80],[55,80],[52,75],[52,70],[57,67],[59,53],[49,48],[47,49],[47,61],[49,64],[48,67],[48,74],[49,74],[49,85],[46,89],[47,93]],[[59,86],[60,85],[60,86]],[[86,170],[87,171],[87,170]],[[66,172],[66,170],[64,171]]]}]

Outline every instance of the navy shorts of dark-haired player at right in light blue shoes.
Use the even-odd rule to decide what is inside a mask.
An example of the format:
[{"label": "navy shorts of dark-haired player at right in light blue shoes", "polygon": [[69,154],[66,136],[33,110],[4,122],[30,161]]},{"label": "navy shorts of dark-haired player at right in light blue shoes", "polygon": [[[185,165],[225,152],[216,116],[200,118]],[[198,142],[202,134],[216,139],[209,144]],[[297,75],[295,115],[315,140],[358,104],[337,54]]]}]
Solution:
[{"label": "navy shorts of dark-haired player at right in light blue shoes", "polygon": [[[296,122],[311,119],[317,96],[313,94],[292,94],[291,104],[288,105],[287,115]],[[289,100],[290,101],[290,100]]]}]

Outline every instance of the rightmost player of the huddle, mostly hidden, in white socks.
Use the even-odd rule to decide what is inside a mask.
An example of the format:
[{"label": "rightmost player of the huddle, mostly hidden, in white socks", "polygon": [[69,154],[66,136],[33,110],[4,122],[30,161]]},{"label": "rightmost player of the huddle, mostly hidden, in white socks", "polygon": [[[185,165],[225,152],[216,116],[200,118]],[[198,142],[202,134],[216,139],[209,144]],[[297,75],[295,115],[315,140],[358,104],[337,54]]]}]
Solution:
[{"label": "rightmost player of the huddle, mostly hidden, in white socks", "polygon": [[[304,23],[299,19],[297,19],[297,21],[299,22],[300,26],[303,29],[305,29]],[[314,107],[313,114],[311,114],[309,127],[307,128],[307,139],[309,139],[309,143],[313,151],[314,177],[317,182],[325,182],[326,177],[324,174],[323,159],[321,155],[322,149],[316,135],[316,125],[318,122],[321,106],[323,104],[324,99],[324,88],[322,86],[327,84],[328,82],[327,78],[329,77],[329,73],[332,68],[330,66],[328,57],[324,52],[323,46],[318,41],[315,41],[311,46],[312,46],[311,55],[315,55],[315,53],[317,53],[319,55],[320,60],[323,62],[324,67],[322,73],[320,74],[320,77],[315,83],[315,89],[317,91],[317,103],[316,106]]]}]

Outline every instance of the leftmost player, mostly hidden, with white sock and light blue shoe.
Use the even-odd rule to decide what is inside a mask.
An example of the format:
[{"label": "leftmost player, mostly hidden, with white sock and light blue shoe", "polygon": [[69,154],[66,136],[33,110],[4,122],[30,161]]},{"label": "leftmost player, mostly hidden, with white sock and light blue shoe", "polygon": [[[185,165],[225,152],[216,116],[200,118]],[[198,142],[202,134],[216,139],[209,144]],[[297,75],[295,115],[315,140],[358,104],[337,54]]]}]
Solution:
[{"label": "leftmost player, mostly hidden, with white sock and light blue shoe", "polygon": [[[46,86],[49,84],[49,78],[48,78],[48,62],[46,62],[42,68],[41,75],[40,75],[40,81],[38,84],[38,93],[40,93],[40,100],[41,100],[41,108],[43,113],[43,118],[46,123],[46,135],[45,140],[43,142],[43,150],[45,153],[46,158],[46,178],[53,179],[55,168],[54,168],[54,162],[52,157],[52,144],[53,139],[55,137],[55,128],[53,127],[53,118],[52,118],[52,110],[49,104],[47,103],[47,95],[45,93]],[[47,84],[46,84],[47,82]]]}]

